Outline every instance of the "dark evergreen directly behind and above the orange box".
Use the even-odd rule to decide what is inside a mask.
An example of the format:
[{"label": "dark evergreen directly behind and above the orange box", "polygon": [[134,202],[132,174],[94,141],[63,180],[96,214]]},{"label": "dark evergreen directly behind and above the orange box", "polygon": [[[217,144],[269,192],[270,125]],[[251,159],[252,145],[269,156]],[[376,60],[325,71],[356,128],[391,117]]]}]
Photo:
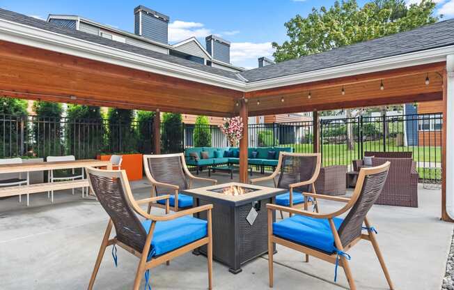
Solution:
[{"label": "dark evergreen directly behind and above the orange box", "polygon": [[132,127],[134,111],[131,109],[109,108],[107,134],[109,153],[132,153],[137,151],[137,134]]}]

